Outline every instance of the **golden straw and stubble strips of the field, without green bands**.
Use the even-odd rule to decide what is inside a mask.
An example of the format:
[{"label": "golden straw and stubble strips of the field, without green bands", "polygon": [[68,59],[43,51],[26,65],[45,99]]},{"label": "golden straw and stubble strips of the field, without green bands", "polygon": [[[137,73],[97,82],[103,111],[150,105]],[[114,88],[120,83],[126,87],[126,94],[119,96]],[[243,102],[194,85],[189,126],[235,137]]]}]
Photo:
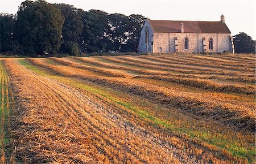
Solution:
[{"label": "golden straw and stubble strips of the field, without green bands", "polygon": [[[141,61],[140,58],[142,58]],[[46,63],[44,59],[28,59],[27,61],[35,66],[46,68],[53,74],[87,80],[98,85],[122,90],[170,109],[173,106],[191,114],[203,116],[203,118],[218,120],[226,126],[232,125],[235,128],[249,131],[255,128],[255,118],[248,112],[253,106],[249,102],[248,109],[246,109],[246,105],[240,105],[240,110],[237,110],[239,107],[235,105],[235,102],[232,102],[230,106],[218,105],[219,100],[206,102],[207,98],[198,98],[200,94],[181,91],[177,93],[177,90],[173,88],[159,87],[155,83],[145,80],[166,81],[181,84],[184,87],[201,88],[200,85],[204,85],[203,89],[206,91],[220,92],[218,94],[221,95],[221,92],[226,92],[225,89],[220,88],[224,85],[212,82],[207,85],[207,80],[210,79],[207,77],[210,77],[210,74],[224,75],[223,78],[226,80],[230,80],[229,76],[231,75],[246,78],[248,75],[243,74],[242,71],[249,71],[248,69],[251,68],[222,66],[220,68],[228,70],[220,71],[215,69],[216,66],[212,66],[210,71],[204,69],[199,72],[197,68],[189,68],[189,64],[203,65],[191,62],[187,66],[178,67],[168,64],[170,63],[167,61],[168,58],[51,58],[60,64],[58,66]],[[179,63],[179,58],[184,57],[177,57],[177,63]],[[98,59],[130,64],[144,69],[104,63]],[[154,60],[163,63],[153,66],[154,62],[151,61]],[[234,59],[234,61],[237,60]],[[81,63],[76,63],[76,61]],[[250,59],[245,59],[245,63],[250,63],[249,61]],[[94,66],[86,66],[82,64],[83,62]],[[150,120],[146,122],[141,120],[133,111],[110,104],[102,100],[101,97],[71,87],[64,82],[38,76],[18,64],[17,61],[6,59],[4,63],[11,76],[11,84],[16,98],[14,124],[18,128],[11,133],[14,138],[13,144],[16,146],[14,153],[20,161],[229,163],[245,160],[232,157],[230,153],[225,153],[225,151],[220,151],[212,146],[203,146],[197,141],[189,141],[152,127]],[[141,75],[118,73],[116,71],[118,69]],[[180,72],[180,74],[173,74],[170,71]],[[206,80],[196,79],[197,75],[201,74],[207,75],[205,76]],[[238,97],[239,94],[247,94],[248,97],[254,95],[255,88],[246,86],[235,85],[233,86],[235,88],[229,87],[228,91],[230,94],[238,93]],[[216,89],[216,87],[219,88]],[[191,97],[187,94],[191,94]],[[195,98],[196,95],[197,98]],[[251,110],[255,111],[255,109]]]}]

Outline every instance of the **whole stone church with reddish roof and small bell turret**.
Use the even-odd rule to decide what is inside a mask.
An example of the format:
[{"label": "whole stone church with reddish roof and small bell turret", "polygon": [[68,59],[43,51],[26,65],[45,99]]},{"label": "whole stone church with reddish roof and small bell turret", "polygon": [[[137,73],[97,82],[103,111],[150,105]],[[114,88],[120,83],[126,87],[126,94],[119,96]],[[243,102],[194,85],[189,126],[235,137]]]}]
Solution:
[{"label": "whole stone church with reddish roof and small bell turret", "polygon": [[139,53],[234,53],[224,15],[220,21],[147,19],[139,38]]}]

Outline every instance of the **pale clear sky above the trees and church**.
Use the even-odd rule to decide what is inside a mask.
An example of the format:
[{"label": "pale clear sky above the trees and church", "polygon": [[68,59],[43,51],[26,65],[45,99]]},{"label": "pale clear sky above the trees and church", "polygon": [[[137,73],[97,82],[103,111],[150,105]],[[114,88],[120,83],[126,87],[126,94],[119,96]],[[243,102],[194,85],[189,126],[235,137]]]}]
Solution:
[{"label": "pale clear sky above the trees and church", "polygon": [[[16,14],[18,6],[24,0],[0,0],[0,12]],[[158,20],[201,20],[220,21],[225,16],[232,36],[245,32],[256,38],[256,0],[240,1],[174,1],[174,0],[47,0],[49,3],[67,3],[84,11],[90,9],[103,10],[109,14],[120,13],[127,16],[141,14],[150,19]]]}]

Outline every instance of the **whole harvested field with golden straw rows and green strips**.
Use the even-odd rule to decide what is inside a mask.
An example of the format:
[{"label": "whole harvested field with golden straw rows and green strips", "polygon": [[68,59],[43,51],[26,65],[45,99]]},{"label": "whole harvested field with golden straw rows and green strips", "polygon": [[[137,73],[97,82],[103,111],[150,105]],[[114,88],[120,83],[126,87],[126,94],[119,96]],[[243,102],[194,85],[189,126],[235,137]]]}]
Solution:
[{"label": "whole harvested field with golden straw rows and green strips", "polygon": [[2,59],[1,160],[254,163],[253,63],[251,55]]}]

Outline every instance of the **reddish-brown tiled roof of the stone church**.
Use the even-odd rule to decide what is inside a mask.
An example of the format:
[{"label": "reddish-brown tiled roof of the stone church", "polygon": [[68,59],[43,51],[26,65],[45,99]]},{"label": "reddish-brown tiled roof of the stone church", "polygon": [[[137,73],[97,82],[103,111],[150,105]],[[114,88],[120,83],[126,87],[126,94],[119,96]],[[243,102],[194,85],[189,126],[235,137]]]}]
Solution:
[{"label": "reddish-brown tiled roof of the stone church", "polygon": [[231,33],[225,23],[220,21],[183,21],[183,20],[148,20],[154,32],[180,33],[184,24],[184,33]]}]

